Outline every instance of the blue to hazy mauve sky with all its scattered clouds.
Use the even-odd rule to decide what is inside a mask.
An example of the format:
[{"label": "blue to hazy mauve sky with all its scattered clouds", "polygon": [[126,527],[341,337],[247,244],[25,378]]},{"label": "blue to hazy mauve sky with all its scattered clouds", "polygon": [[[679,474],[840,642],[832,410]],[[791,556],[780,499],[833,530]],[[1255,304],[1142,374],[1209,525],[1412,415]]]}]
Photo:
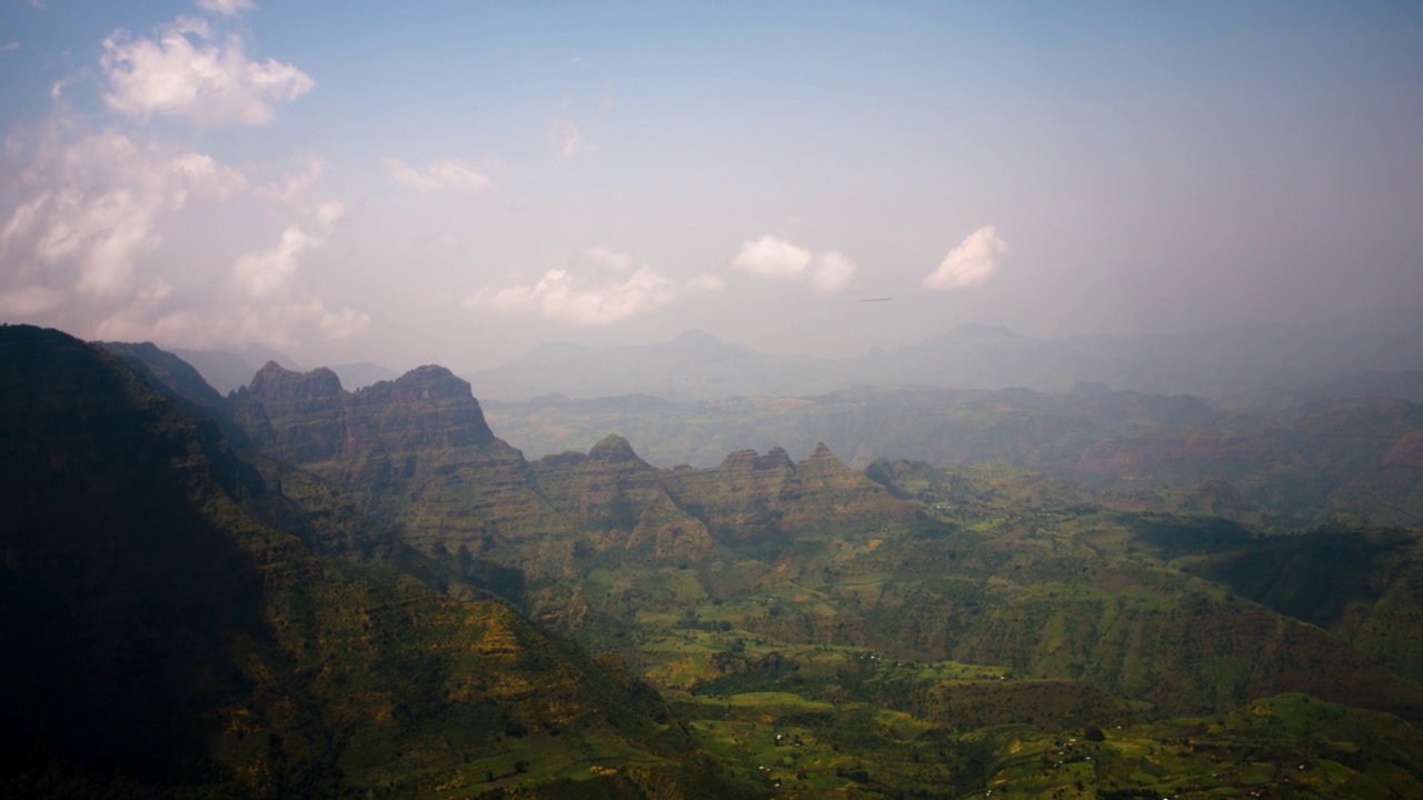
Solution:
[{"label": "blue to hazy mauve sky with all its scattered clouds", "polygon": [[1423,300],[1420,3],[0,0],[0,320],[85,339],[468,370]]}]

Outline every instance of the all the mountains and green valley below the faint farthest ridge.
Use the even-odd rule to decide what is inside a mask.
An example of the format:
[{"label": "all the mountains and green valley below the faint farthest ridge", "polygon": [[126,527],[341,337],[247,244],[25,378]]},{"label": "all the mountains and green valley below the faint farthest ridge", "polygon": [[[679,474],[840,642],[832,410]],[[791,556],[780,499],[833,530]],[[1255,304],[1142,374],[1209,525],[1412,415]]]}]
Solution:
[{"label": "all the mountains and green valley below the faint farthest ridge", "polygon": [[761,401],[953,457],[657,467],[438,366],[0,364],[7,796],[1423,791],[1407,400],[862,389]]}]

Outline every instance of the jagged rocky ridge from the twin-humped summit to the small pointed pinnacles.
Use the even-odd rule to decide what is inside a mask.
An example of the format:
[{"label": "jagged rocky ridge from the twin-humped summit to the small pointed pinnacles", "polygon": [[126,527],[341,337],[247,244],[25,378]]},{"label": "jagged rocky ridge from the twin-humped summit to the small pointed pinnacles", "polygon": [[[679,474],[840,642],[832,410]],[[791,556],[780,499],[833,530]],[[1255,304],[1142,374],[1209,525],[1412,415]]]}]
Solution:
[{"label": "jagged rocky ridge from the twin-humped summit to the small pointed pinnacles", "polygon": [[363,494],[407,542],[477,554],[535,584],[603,554],[696,559],[776,547],[808,525],[867,532],[916,514],[824,444],[800,464],[776,447],[710,470],[657,470],[608,436],[586,456],[529,464],[494,437],[470,384],[437,366],[347,393],[330,370],[269,363],[233,406],[266,454]]}]

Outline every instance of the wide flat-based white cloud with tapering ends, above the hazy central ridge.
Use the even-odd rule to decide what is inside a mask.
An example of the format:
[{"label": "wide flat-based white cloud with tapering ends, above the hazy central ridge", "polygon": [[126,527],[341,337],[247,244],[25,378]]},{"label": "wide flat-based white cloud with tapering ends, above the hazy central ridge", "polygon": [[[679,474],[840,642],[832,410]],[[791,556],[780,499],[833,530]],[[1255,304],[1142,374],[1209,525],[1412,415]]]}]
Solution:
[{"label": "wide flat-based white cloud with tapering ends, above the hazy central ridge", "polygon": [[677,298],[721,288],[714,276],[699,276],[684,285],[646,263],[635,268],[629,253],[593,246],[565,269],[551,269],[528,285],[481,289],[464,305],[472,309],[534,310],[549,319],[575,325],[612,325],[650,312]]}]

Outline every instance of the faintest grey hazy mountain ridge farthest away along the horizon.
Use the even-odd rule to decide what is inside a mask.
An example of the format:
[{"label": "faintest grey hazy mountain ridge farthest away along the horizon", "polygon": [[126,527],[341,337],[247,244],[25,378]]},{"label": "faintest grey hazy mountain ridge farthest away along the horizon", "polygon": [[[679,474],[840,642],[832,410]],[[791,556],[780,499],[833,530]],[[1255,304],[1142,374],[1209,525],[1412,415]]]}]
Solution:
[{"label": "faintest grey hazy mountain ridge farthest away along the horizon", "polygon": [[821,394],[855,384],[1067,391],[1077,383],[1214,399],[1370,370],[1419,370],[1423,350],[1414,343],[1420,340],[1423,316],[1409,315],[1178,336],[1066,339],[963,325],[895,350],[813,359],[760,353],[689,332],[670,342],[629,347],[544,344],[465,377],[485,400],[652,394],[690,401]]}]

